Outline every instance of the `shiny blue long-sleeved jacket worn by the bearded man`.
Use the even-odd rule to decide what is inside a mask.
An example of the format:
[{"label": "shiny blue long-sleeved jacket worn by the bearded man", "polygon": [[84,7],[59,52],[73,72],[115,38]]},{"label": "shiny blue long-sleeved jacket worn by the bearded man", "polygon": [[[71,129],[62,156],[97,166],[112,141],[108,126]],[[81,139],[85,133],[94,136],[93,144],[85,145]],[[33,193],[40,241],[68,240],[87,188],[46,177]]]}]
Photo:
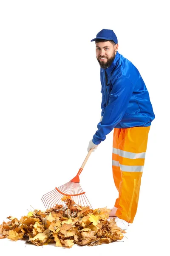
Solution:
[{"label": "shiny blue long-sleeved jacket worn by the bearded man", "polygon": [[103,119],[93,136],[94,144],[105,140],[113,128],[151,125],[155,115],[149,93],[139,71],[127,58],[117,52],[111,66],[100,69],[100,80]]}]

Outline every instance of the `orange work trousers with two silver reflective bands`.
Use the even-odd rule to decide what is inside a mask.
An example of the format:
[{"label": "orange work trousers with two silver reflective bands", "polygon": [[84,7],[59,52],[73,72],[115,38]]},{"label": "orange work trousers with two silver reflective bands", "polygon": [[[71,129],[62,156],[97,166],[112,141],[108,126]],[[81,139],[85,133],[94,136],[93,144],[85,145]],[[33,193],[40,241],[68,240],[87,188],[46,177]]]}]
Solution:
[{"label": "orange work trousers with two silver reflective bands", "polygon": [[143,173],[148,127],[114,128],[112,171],[119,198],[116,216],[133,223]]}]

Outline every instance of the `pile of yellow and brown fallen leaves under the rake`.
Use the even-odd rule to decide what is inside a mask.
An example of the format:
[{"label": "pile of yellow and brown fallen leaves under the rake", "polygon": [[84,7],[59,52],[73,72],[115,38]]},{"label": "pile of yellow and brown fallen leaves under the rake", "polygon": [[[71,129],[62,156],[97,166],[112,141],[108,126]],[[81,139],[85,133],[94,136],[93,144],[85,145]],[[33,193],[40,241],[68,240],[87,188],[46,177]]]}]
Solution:
[{"label": "pile of yellow and brown fallen leaves under the rake", "polygon": [[55,243],[68,248],[74,244],[93,246],[122,240],[125,231],[117,227],[114,218],[108,221],[110,209],[93,210],[80,205],[73,209],[68,203],[70,198],[64,196],[62,201],[67,209],[56,205],[46,211],[34,209],[20,220],[9,216],[9,221],[0,225],[0,238],[22,239],[37,246]]}]

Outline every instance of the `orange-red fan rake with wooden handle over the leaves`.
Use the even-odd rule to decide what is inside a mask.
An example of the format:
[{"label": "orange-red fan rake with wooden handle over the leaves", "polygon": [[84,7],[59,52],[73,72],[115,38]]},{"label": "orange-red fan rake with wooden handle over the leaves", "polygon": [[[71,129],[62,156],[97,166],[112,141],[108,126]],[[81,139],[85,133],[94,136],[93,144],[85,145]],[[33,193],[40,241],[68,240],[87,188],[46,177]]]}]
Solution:
[{"label": "orange-red fan rake with wooden handle over the leaves", "polygon": [[45,208],[62,209],[64,211],[67,208],[67,210],[70,210],[70,213],[73,212],[73,214],[75,214],[75,212],[78,210],[82,210],[84,212],[90,209],[88,206],[89,201],[79,184],[79,175],[82,172],[92,151],[93,148],[89,150],[84,162],[82,163],[82,166],[77,172],[77,175],[72,180],[62,186],[56,187],[54,190],[42,196],[41,201]]}]

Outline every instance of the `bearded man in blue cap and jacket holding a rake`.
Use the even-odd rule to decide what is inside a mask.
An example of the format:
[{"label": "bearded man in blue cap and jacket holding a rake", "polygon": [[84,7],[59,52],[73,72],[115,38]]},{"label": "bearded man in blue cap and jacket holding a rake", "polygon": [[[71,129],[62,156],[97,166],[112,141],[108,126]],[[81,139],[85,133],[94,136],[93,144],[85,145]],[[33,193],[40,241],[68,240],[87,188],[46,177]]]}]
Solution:
[{"label": "bearded man in blue cap and jacket holding a rake", "polygon": [[137,68],[118,52],[113,30],[102,29],[96,38],[101,67],[101,119],[88,151],[106,139],[113,128],[112,172],[119,197],[110,217],[123,230],[133,223],[139,201],[147,138],[155,115],[146,85]]}]

